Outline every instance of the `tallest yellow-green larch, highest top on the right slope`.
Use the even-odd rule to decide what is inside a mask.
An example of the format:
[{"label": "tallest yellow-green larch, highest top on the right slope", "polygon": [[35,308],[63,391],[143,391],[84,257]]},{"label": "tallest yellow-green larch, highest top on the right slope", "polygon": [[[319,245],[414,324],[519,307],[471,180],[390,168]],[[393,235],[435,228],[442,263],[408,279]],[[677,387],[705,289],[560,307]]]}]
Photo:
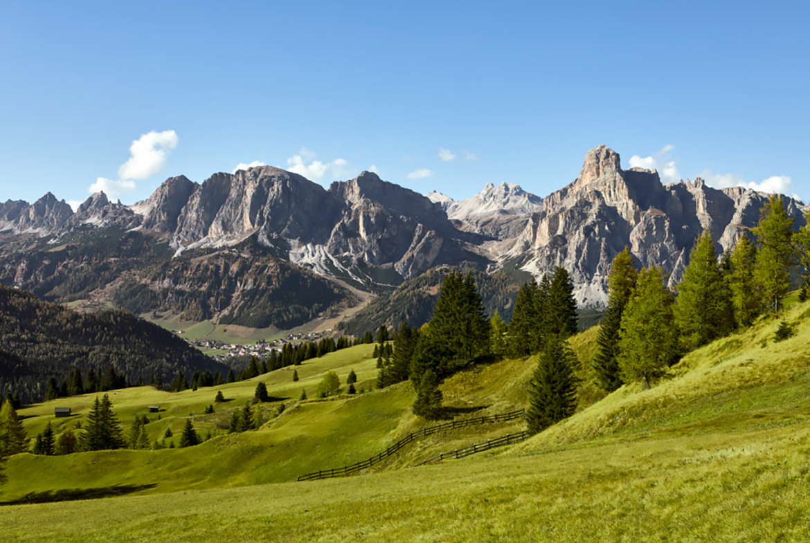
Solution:
[{"label": "tallest yellow-green larch, highest top on the right slope", "polygon": [[761,209],[759,226],[752,231],[759,245],[754,278],[762,287],[766,308],[774,313],[781,308],[782,298],[791,286],[791,266],[795,262],[792,227],[793,218],[785,211],[782,197],[772,194]]}]

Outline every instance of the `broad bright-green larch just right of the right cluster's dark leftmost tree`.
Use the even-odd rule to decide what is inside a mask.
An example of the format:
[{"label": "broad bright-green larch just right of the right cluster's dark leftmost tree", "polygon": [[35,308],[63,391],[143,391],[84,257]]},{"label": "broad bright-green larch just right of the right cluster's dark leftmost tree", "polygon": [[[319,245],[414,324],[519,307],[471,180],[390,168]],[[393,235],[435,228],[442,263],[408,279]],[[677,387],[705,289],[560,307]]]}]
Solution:
[{"label": "broad bright-green larch just right of the right cluster's dark leftmost tree", "polygon": [[618,362],[625,383],[663,374],[678,353],[678,331],[672,295],[660,268],[642,269],[633,295],[621,316]]}]

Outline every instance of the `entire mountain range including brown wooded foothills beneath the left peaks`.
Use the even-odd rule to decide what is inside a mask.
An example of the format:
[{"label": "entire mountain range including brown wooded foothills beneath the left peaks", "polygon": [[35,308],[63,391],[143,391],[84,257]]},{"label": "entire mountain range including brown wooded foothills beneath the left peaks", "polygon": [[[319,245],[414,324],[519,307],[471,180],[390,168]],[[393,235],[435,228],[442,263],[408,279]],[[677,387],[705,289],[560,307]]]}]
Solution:
[{"label": "entire mountain range including brown wooded foothills beneath the left peaks", "polygon": [[[261,166],[216,173],[202,184],[172,177],[133,206],[104,193],[75,212],[50,193],[33,204],[0,204],[0,282],[55,301],[127,286],[142,293],[139,310],[184,299],[198,304],[197,316],[240,322],[244,308],[265,311],[257,299],[275,301],[266,296],[272,280],[261,280],[266,269],[275,269],[271,278],[305,278],[292,288],[308,285],[318,294],[297,300],[288,293],[287,303],[319,304],[321,311],[356,303],[349,287],[390,291],[441,265],[535,277],[561,265],[578,303],[599,307],[611,261],[625,245],[639,265],[663,266],[676,282],[697,235],[708,230],[719,251],[730,248],[740,231],[757,224],[767,198],[740,187],[714,189],[701,179],[663,184],[654,170],[623,170],[606,146],[588,151],[577,179],[546,197],[501,183],[460,202],[373,172],[325,189]],[[785,202],[795,226],[804,224],[806,206],[791,197]],[[101,252],[111,246],[116,250]],[[190,274],[212,259],[218,264],[207,267],[210,280],[198,295],[203,286]],[[256,259],[265,267],[249,272]],[[281,326],[299,320],[258,319]]]}]

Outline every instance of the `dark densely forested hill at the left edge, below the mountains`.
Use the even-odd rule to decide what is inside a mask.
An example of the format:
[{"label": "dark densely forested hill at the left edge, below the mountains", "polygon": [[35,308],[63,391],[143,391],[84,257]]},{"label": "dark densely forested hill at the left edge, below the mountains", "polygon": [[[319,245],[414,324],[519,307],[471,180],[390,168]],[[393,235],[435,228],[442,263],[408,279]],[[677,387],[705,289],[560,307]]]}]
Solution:
[{"label": "dark densely forested hill at the left edge, below the mountains", "polygon": [[0,393],[21,403],[104,392],[140,375],[217,371],[181,338],[129,312],[78,313],[0,285]]}]

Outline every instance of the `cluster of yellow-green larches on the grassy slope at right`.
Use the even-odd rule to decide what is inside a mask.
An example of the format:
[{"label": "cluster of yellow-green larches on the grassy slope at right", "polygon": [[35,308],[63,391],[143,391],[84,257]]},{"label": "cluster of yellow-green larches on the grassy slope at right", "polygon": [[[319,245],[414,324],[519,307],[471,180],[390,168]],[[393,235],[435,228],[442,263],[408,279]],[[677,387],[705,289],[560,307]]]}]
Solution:
[{"label": "cluster of yellow-green larches on the grassy slope at right", "polygon": [[[810,223],[810,213],[805,218]],[[649,387],[685,352],[747,328],[762,313],[779,312],[796,264],[800,297],[806,299],[810,225],[794,232],[793,218],[774,195],[751,233],[742,233],[718,259],[714,240],[704,232],[674,293],[663,270],[638,271],[627,248],[616,256],[594,363],[605,390],[633,381]]]}]

